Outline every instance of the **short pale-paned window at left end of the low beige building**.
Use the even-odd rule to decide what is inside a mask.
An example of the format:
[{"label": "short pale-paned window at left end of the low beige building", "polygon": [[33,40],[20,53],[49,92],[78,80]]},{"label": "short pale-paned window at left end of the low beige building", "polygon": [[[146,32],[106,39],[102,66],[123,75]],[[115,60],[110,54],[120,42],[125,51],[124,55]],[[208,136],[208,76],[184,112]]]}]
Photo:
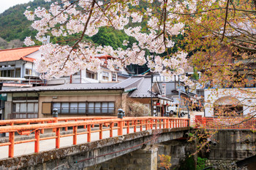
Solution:
[{"label": "short pale-paned window at left end of the low beige building", "polygon": [[37,113],[38,103],[13,103],[12,112],[16,113]]}]

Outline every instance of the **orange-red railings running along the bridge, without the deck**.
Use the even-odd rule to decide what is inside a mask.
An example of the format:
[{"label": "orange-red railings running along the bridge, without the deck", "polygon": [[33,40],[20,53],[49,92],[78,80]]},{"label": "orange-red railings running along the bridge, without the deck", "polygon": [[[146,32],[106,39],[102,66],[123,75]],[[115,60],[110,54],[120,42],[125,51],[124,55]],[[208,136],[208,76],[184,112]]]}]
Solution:
[{"label": "orange-red railings running along the bridge, without the deck", "polygon": [[[71,119],[70,117],[66,117]],[[64,123],[40,123],[31,125],[9,125],[0,126],[0,133],[9,133],[9,142],[0,143],[0,147],[9,146],[9,158],[13,158],[15,144],[26,142],[34,142],[34,152],[39,152],[39,142],[43,140],[55,139],[56,148],[60,147],[61,138],[72,136],[72,144],[77,144],[78,135],[87,134],[87,142],[91,142],[91,134],[98,133],[99,139],[102,139],[103,132],[109,131],[109,137],[113,137],[113,131],[117,130],[117,135],[123,135],[126,130],[130,133],[130,128],[133,128],[132,133],[138,131],[157,129],[157,128],[181,128],[187,127],[188,119],[175,117],[125,117],[124,119],[112,118],[105,120],[83,120]],[[82,126],[84,131],[78,132],[78,126]],[[92,128],[94,126],[94,128]],[[72,127],[70,134],[62,134],[61,130]],[[53,129],[55,136],[40,137],[40,131],[43,129]],[[18,134],[34,133],[34,139],[26,139],[15,141],[15,132]],[[26,132],[26,133],[23,133]],[[85,141],[86,142],[86,141]]]}]

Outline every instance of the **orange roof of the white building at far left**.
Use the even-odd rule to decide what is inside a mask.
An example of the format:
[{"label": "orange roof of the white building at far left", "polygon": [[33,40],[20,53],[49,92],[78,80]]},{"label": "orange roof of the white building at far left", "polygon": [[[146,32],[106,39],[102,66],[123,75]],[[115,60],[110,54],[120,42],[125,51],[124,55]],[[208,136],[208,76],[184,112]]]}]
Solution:
[{"label": "orange roof of the white building at far left", "polygon": [[36,52],[39,50],[39,46],[35,47],[20,47],[14,49],[0,50],[0,62],[4,61],[30,61],[33,62],[34,58],[26,58],[26,55]]}]

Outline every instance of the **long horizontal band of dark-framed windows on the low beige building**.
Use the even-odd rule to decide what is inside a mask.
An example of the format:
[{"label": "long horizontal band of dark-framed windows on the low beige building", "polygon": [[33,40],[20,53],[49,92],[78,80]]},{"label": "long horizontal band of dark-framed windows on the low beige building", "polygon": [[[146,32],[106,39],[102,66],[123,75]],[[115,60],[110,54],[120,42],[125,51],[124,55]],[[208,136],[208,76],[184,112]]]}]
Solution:
[{"label": "long horizontal band of dark-framed windows on the low beige building", "polygon": [[115,102],[54,102],[59,114],[114,114]]}]

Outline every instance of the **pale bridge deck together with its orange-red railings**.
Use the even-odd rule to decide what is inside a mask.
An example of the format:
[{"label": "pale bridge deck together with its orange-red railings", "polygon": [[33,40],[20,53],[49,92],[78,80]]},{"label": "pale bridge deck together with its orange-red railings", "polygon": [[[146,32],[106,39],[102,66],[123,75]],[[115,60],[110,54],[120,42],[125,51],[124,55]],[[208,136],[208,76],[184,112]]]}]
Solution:
[{"label": "pale bridge deck together with its orange-red railings", "polygon": [[[38,121],[40,122],[40,121]],[[122,136],[136,131],[145,131],[158,128],[181,128],[187,127],[188,119],[173,117],[125,117],[124,119],[80,120],[75,122],[33,124],[33,125],[8,125],[1,126],[0,133],[9,133],[9,142],[0,143],[0,159],[12,158],[33,152],[52,150],[64,146],[83,144],[86,142],[106,139],[113,136]],[[78,126],[83,131],[78,131]],[[61,134],[61,130],[69,134]],[[42,130],[48,129],[56,134],[50,137],[40,136]],[[18,134],[35,134],[34,139],[15,140],[15,132]]]}]

